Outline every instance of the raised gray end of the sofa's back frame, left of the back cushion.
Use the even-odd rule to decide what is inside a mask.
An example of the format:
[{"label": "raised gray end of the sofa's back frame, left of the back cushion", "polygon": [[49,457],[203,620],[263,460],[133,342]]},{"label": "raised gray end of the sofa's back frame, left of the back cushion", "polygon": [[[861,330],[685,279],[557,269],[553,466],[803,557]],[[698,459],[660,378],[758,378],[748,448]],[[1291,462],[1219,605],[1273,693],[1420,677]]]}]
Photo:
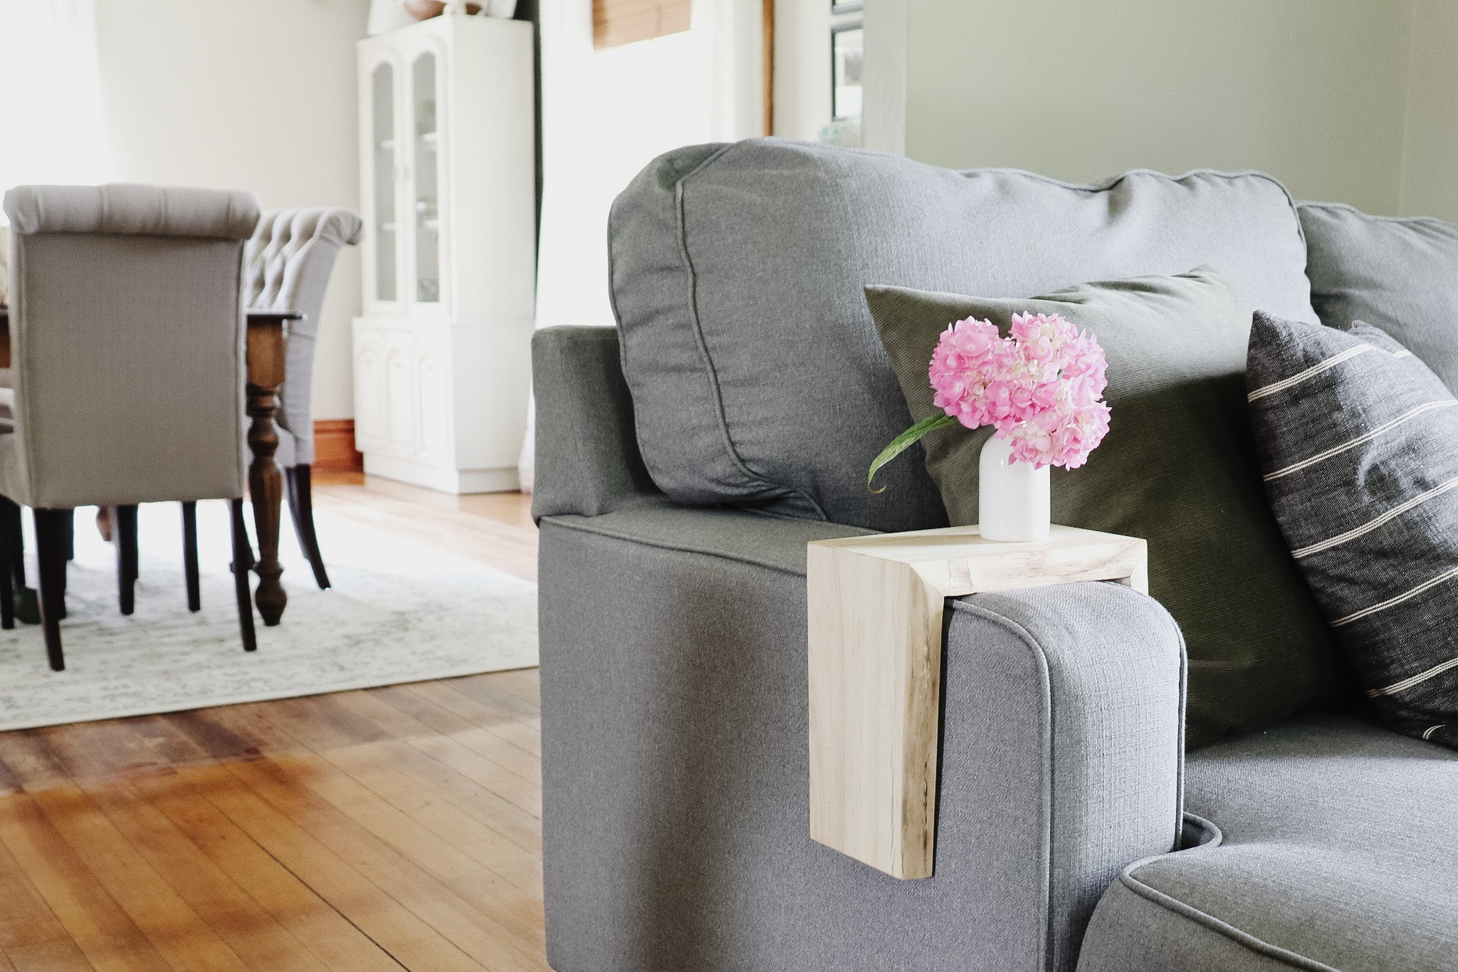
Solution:
[{"label": "raised gray end of the sofa's back frame, left of the back cushion", "polygon": [[532,516],[601,516],[662,494],[639,455],[617,328],[532,335],[537,456]]}]

